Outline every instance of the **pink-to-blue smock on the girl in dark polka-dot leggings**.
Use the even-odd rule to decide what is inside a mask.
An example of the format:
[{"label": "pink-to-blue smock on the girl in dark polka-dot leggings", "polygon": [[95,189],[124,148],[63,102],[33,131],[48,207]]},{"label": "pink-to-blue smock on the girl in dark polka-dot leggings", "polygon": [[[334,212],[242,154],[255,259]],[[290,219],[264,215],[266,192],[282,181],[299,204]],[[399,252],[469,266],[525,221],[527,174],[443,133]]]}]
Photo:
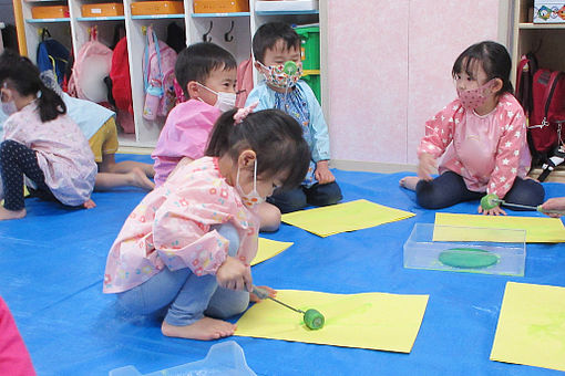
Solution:
[{"label": "pink-to-blue smock on the girl in dark polka-dot leggings", "polygon": [[45,184],[59,201],[80,206],[90,199],[97,167],[79,126],[66,115],[42,123],[35,102],[4,123],[3,139],[12,139],[35,152]]}]

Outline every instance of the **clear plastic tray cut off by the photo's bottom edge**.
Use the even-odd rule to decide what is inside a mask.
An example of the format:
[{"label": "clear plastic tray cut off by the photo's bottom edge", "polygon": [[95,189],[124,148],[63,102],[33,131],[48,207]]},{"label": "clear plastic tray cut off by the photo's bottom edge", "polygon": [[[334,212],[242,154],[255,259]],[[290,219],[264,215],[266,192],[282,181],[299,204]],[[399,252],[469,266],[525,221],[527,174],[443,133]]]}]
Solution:
[{"label": "clear plastic tray cut off by the photo's bottom edge", "polygon": [[[213,345],[202,361],[157,370],[144,376],[256,376],[247,366],[243,348],[234,341]],[[142,376],[134,366],[115,368],[110,376]]]}]

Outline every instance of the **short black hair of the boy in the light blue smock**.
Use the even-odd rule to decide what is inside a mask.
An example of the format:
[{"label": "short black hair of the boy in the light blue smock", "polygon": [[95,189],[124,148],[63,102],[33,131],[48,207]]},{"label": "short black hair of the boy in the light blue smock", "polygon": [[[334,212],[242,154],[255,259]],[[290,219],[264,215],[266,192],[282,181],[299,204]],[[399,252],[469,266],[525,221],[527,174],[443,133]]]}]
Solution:
[{"label": "short black hair of the boy in the light blue smock", "polygon": [[269,22],[261,25],[253,36],[253,55],[255,60],[264,63],[265,52],[275,48],[282,40],[288,50],[300,49],[300,36],[288,23]]}]

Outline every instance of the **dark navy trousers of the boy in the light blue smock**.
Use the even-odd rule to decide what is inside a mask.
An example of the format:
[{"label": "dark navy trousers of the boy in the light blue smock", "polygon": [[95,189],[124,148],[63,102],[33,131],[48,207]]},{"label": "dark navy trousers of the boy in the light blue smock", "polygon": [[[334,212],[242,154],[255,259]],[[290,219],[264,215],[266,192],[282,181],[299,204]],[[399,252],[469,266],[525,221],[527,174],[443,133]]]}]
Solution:
[{"label": "dark navy trousers of the boy in the light blue smock", "polygon": [[300,186],[298,188],[276,192],[267,198],[267,201],[280,209],[280,212],[291,212],[305,208],[307,205],[323,207],[338,203],[343,196],[336,181],[329,184],[315,184],[310,188]]}]

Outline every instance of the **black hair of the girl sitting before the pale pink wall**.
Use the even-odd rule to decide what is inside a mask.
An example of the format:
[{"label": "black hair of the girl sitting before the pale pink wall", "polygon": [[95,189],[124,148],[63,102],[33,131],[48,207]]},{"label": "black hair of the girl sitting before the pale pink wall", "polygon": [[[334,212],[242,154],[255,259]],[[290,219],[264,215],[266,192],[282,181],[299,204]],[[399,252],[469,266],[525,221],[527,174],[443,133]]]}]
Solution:
[{"label": "black hair of the girl sitting before the pale pink wall", "polygon": [[512,60],[504,45],[493,41],[484,41],[469,46],[455,60],[451,75],[456,77],[458,74],[465,72],[473,77],[476,64],[481,64],[484,73],[486,73],[487,81],[502,80],[502,88],[499,94],[512,94],[514,92],[510,82]]}]

